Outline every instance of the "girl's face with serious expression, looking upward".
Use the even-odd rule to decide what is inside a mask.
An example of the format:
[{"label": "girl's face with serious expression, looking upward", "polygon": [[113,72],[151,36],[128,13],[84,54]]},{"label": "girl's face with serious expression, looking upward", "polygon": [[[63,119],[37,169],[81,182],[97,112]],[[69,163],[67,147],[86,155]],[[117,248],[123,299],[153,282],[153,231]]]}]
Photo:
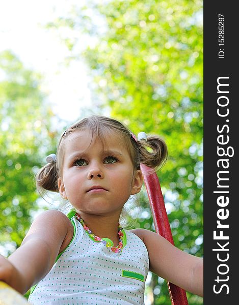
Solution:
[{"label": "girl's face with serious expression, looking upward", "polygon": [[107,136],[104,146],[91,139],[89,130],[75,131],[65,139],[60,194],[79,212],[120,215],[130,194],[142,187],[141,171],[134,173],[127,148],[116,133]]}]

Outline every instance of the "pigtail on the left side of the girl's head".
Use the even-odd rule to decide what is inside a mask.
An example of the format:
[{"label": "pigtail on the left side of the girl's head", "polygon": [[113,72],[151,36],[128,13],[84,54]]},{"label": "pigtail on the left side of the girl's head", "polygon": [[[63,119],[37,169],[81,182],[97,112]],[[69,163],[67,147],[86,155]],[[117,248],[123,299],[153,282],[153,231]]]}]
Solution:
[{"label": "pigtail on the left side of the girl's head", "polygon": [[56,161],[52,161],[43,166],[36,174],[35,179],[40,195],[45,194],[46,191],[59,192]]}]

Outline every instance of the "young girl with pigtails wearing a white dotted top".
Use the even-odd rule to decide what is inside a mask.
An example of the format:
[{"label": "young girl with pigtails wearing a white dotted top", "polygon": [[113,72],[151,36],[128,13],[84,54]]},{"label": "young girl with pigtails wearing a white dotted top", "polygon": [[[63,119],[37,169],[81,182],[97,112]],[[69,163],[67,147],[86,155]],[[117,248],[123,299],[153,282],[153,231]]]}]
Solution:
[{"label": "young girl with pigtails wearing a white dotted top", "polygon": [[37,174],[37,187],[59,192],[74,209],[38,216],[21,247],[0,257],[1,280],[21,293],[35,285],[33,304],[143,304],[151,270],[202,296],[201,258],[119,224],[125,202],[141,190],[140,163],[154,168],[166,160],[161,138],[137,141],[117,120],[94,115],[64,132],[55,156]]}]

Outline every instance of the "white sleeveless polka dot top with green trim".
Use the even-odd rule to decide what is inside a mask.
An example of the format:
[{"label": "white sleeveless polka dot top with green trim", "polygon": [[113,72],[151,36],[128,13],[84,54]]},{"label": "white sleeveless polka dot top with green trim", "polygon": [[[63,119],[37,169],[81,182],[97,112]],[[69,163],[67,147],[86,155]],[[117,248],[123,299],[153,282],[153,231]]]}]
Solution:
[{"label": "white sleeveless polka dot top with green trim", "polygon": [[[33,305],[144,304],[149,257],[143,241],[124,230],[121,253],[92,240],[75,217],[74,236],[30,294]],[[34,289],[35,288],[35,289]]]}]

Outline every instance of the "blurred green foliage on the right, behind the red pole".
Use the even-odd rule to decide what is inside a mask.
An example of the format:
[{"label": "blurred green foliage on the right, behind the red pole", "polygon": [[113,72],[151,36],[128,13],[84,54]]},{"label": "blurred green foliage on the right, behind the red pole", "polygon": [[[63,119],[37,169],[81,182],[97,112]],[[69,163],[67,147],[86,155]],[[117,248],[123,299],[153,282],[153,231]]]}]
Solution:
[{"label": "blurred green foliage on the right, behind the red pole", "polygon": [[[198,0],[122,0],[88,2],[58,23],[72,30],[81,27],[97,38],[84,56],[95,92],[111,115],[134,133],[160,134],[166,140],[169,158],[158,176],[174,242],[197,256],[203,255],[201,21]],[[71,45],[74,54],[77,47]],[[144,193],[140,200],[137,226],[154,230]],[[162,282],[153,275],[146,292],[154,291],[154,304],[167,305]],[[200,297],[188,293],[188,298],[191,304],[202,304]]]}]

